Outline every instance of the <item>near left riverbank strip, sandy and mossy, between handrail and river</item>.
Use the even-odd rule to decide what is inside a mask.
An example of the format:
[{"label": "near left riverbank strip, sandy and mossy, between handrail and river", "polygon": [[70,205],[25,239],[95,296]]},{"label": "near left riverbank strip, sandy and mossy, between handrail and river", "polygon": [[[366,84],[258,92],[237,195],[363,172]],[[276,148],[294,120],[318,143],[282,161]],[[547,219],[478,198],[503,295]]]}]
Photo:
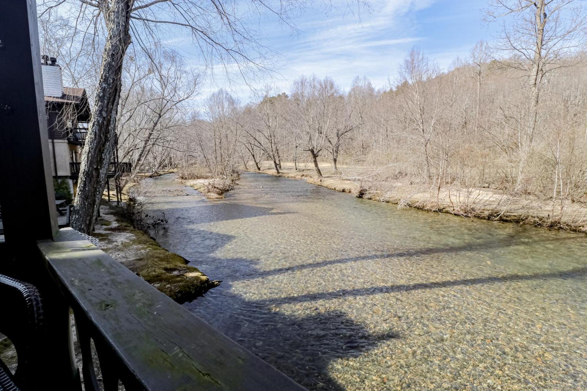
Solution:
[{"label": "near left riverbank strip, sandy and mossy, between handrail and river", "polygon": [[193,301],[220,284],[116,217],[110,206],[100,207],[100,215],[92,234],[100,249],[178,303]]}]

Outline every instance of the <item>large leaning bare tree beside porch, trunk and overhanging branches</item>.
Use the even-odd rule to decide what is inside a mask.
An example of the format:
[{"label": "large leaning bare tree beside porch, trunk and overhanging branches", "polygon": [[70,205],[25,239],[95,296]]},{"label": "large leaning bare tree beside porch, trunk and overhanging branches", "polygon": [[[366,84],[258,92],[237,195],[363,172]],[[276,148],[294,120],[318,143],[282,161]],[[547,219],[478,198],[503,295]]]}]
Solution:
[{"label": "large leaning bare tree beside porch, trunk and overhanging branches", "polygon": [[[144,46],[144,41],[150,37],[158,39],[158,31],[187,29],[205,62],[220,61],[229,77],[234,75],[233,69],[240,76],[251,69],[269,70],[271,63],[265,59],[271,58],[270,50],[259,44],[258,37],[245,25],[245,18],[242,18],[236,5],[231,0],[210,3],[192,0],[45,0],[40,4],[41,15],[63,6],[68,12],[85,18],[86,22],[82,24],[88,29],[95,26],[89,37],[100,33],[104,36],[93,117],[79,173],[76,214],[72,218],[72,226],[77,230],[85,233],[92,231],[106,186],[116,141],[123,63],[131,35],[139,46]],[[281,1],[275,8],[269,2],[263,5],[282,22],[291,25],[289,14],[303,2]],[[252,9],[258,10],[255,7]]]}]

